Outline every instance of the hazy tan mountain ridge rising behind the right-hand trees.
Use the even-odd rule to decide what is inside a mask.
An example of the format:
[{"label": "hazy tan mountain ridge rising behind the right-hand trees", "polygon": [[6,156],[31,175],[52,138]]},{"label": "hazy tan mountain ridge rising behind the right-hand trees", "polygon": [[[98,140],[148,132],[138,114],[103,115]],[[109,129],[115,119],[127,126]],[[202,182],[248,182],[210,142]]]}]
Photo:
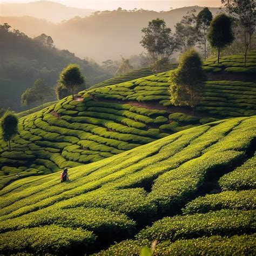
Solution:
[{"label": "hazy tan mountain ridge rising behind the right-hand trees", "polygon": [[[203,7],[190,6],[165,12],[104,11],[89,17],[75,17],[59,24],[32,17],[1,17],[0,23],[6,22],[30,37],[46,33],[52,36],[57,48],[69,49],[78,57],[87,56],[102,62],[106,59],[120,59],[120,55],[130,57],[141,53],[141,30],[149,21],[154,18],[164,19],[173,30],[181,17],[192,9],[198,13]],[[215,15],[219,8],[210,10]]]}]

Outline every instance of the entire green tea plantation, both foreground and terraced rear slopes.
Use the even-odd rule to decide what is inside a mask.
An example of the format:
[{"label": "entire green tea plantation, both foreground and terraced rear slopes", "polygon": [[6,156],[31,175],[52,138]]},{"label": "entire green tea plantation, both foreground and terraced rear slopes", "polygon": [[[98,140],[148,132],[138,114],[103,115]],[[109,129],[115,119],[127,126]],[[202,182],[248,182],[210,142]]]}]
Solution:
[{"label": "entire green tea plantation, both foreground and terraced rear slopes", "polygon": [[256,51],[241,59],[207,60],[195,116],[172,71],[21,114],[10,152],[0,132],[0,254],[255,255]]}]

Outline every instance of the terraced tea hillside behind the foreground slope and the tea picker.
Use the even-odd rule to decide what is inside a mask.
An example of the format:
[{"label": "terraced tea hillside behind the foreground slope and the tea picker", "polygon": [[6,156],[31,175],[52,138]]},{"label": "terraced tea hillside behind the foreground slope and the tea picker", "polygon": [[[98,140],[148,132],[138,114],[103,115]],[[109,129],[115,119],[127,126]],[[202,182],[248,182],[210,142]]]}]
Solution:
[{"label": "terraced tea hillside behind the foreground slope and the tea picker", "polygon": [[218,119],[256,115],[253,82],[207,81],[191,117],[188,107],[171,106],[169,76],[171,71],[83,91],[75,100],[66,97],[22,117],[12,151],[1,142],[0,186],[105,159]]}]

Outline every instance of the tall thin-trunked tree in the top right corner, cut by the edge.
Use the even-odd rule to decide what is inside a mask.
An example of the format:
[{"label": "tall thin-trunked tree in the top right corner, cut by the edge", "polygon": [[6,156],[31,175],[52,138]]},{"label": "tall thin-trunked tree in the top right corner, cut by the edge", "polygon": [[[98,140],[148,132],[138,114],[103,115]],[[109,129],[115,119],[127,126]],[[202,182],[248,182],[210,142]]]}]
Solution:
[{"label": "tall thin-trunked tree in the top right corner, cut by the edge", "polygon": [[233,16],[242,28],[244,38],[244,66],[246,66],[247,51],[256,25],[255,0],[221,0],[227,12]]}]

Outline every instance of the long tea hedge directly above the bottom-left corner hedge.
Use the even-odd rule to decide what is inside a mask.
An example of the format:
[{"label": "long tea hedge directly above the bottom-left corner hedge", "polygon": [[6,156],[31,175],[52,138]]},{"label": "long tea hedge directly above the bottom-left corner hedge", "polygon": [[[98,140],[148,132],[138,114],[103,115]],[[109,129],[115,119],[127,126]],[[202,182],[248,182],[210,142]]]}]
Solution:
[{"label": "long tea hedge directly above the bottom-left corner hedge", "polygon": [[132,233],[134,221],[124,214],[105,210],[103,208],[76,207],[70,209],[55,209],[51,207],[31,212],[21,217],[5,220],[1,231],[20,230],[21,228],[56,224],[65,227],[82,227],[97,234]]}]

